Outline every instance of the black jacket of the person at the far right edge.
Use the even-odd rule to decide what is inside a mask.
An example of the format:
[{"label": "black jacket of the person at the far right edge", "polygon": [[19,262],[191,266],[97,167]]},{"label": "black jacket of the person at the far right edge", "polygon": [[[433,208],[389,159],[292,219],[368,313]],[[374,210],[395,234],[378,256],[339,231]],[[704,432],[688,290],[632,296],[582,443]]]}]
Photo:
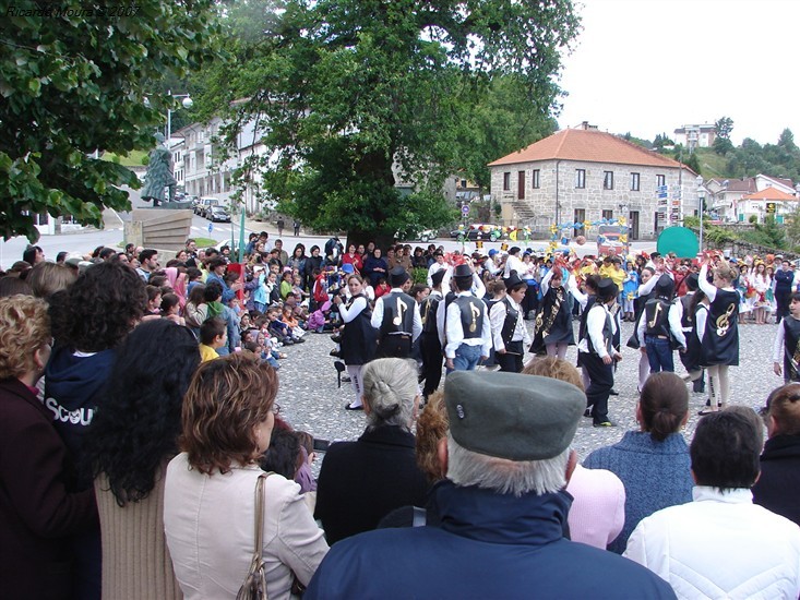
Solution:
[{"label": "black jacket of the person at the far right edge", "polygon": [[800,435],[776,435],[764,444],[753,502],[800,525]]}]

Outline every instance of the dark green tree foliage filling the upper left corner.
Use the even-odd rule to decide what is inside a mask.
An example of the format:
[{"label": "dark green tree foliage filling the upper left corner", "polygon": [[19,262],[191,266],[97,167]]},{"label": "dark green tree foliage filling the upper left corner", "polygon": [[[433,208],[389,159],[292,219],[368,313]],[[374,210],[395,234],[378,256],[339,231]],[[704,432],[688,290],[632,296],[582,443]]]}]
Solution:
[{"label": "dark green tree foliage filling the upper left corner", "polygon": [[154,144],[171,99],[143,89],[215,56],[212,0],[34,2],[3,9],[0,40],[0,233],[37,238],[33,215],[98,224],[130,207],[136,177],[95,151]]}]

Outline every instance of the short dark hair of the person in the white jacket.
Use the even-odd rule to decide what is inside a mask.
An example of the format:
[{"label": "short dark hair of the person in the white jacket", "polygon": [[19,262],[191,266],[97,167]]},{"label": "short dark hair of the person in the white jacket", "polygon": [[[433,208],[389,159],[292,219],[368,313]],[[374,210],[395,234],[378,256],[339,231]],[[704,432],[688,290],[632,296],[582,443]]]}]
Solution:
[{"label": "short dark hair of the person in the white jacket", "polygon": [[720,492],[752,487],[760,472],[762,427],[755,412],[747,407],[735,406],[703,417],[689,446],[697,485]]}]

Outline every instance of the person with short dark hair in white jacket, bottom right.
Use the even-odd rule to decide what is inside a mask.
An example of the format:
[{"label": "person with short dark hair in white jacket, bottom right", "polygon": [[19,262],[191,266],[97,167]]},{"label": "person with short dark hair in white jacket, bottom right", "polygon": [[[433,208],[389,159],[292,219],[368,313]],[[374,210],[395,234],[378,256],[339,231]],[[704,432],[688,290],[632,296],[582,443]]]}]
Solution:
[{"label": "person with short dark hair in white jacket, bottom right", "polygon": [[753,504],[762,428],[736,406],[697,423],[690,446],[693,502],[643,519],[624,556],[666,579],[678,598],[798,598],[800,528]]}]

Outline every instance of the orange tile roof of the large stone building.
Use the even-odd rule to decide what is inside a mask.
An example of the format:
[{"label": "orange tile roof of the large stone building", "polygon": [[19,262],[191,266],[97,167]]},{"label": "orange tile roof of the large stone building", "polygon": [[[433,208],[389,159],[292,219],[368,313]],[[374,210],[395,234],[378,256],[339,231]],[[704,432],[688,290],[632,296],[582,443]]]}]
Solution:
[{"label": "orange tile roof of the large stone building", "polygon": [[[585,129],[561,130],[520,152],[514,152],[489,163],[489,166],[497,167],[553,159],[646,167],[678,168],[681,166],[677,160],[643,148],[611,133]],[[689,167],[686,168],[689,169]]]}]

